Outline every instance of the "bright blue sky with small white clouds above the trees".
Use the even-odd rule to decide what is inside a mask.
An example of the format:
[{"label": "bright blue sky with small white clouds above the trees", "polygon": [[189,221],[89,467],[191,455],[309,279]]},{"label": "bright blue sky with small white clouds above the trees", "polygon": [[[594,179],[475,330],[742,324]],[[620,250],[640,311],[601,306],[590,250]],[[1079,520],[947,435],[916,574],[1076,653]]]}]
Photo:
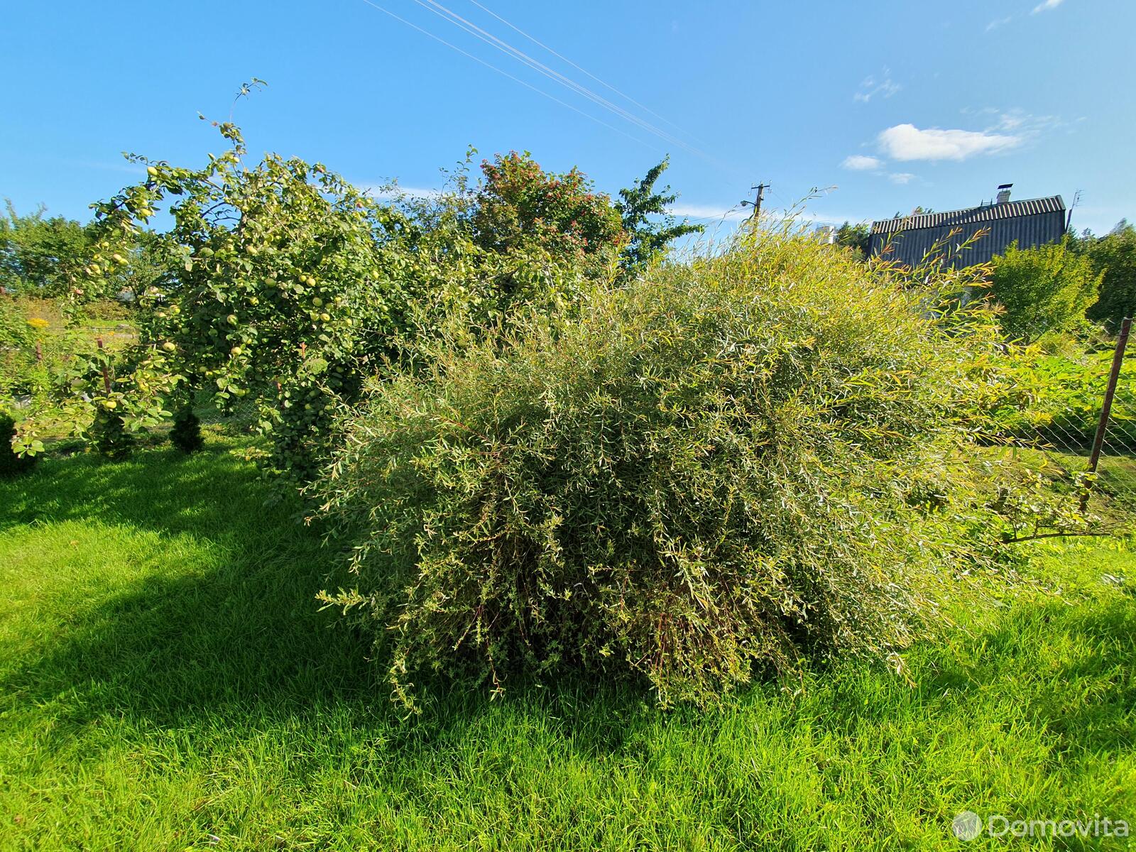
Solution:
[{"label": "bright blue sky with small white clouds above the trees", "polygon": [[966,207],[1004,182],[1080,190],[1077,228],[1136,219],[1133,0],[6,6],[0,195],[20,210],[86,218],[136,172],[124,150],[200,162],[220,141],[197,114],[227,118],[257,76],[235,107],[251,150],[359,184],[436,187],[474,145],[613,192],[669,152],[678,211],[708,220],[759,181],[772,207],[835,186],[819,220]]}]

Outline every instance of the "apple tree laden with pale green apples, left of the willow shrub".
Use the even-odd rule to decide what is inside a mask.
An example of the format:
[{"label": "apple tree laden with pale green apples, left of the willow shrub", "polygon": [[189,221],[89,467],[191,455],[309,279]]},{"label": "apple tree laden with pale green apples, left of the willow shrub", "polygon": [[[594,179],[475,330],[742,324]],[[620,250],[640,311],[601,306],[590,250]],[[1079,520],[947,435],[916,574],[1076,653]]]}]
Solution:
[{"label": "apple tree laden with pale green apples, left of the willow shrub", "polygon": [[202,398],[222,409],[248,399],[272,435],[268,467],[302,479],[336,406],[396,354],[417,282],[411,224],[323,166],[268,154],[249,167],[240,131],[218,127],[229,149],[204,167],[132,157],[147,179],[95,206],[76,299],[132,262],[159,206],[169,227],[149,241],[161,274],[139,294],[139,343],[89,353],[72,385],[73,431],[130,433]]}]

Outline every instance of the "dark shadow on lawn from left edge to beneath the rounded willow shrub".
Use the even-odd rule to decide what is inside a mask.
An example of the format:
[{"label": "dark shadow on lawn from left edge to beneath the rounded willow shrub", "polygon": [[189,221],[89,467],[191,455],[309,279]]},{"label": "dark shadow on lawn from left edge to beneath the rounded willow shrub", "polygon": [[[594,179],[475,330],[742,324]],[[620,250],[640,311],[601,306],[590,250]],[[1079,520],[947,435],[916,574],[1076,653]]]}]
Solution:
[{"label": "dark shadow on lawn from left edge to beneath the rounded willow shrub", "polygon": [[[158,556],[167,574],[116,579],[109,593],[97,582],[90,605],[7,667],[0,707],[50,707],[48,742],[108,717],[248,736],[279,724],[318,729],[319,715],[334,710],[398,747],[452,743],[500,709],[486,690],[435,683],[424,690],[424,713],[402,719],[369,642],[318,609],[317,591],[350,583],[335,576],[339,554],[298,521],[299,500],[268,506],[272,494],[252,465],[216,445],[190,458],[149,450],[118,463],[48,458],[33,475],[0,483],[0,531],[98,521],[157,534],[154,548],[172,548]],[[186,552],[179,544],[204,563],[176,563]],[[617,747],[623,724],[650,707],[643,692],[628,700],[626,690],[587,678],[549,692],[518,688],[507,703],[546,707],[545,718],[590,752]]]}]

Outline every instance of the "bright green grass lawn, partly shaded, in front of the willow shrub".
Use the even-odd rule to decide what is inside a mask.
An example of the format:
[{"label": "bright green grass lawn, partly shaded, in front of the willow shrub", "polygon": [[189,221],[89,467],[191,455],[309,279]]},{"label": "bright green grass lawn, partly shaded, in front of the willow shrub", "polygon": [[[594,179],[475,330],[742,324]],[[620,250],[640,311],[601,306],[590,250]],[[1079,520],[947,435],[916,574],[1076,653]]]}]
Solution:
[{"label": "bright green grass lawn, partly shaded, in front of the willow shrub", "polygon": [[1060,596],[916,649],[913,684],[847,663],[705,715],[440,687],[402,721],[317,611],[335,554],[267,494],[216,440],[0,483],[0,849],[1130,847],[950,828],[1136,822],[1136,554],[1108,540],[1035,551]]}]

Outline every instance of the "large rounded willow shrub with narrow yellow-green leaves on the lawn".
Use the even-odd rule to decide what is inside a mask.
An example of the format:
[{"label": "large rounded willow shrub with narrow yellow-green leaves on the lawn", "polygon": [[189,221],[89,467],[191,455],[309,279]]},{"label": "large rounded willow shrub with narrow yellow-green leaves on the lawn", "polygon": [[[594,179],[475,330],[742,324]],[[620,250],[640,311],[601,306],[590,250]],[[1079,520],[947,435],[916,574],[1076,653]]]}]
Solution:
[{"label": "large rounded willow shrub with narrow yellow-green leaves on the lawn", "polygon": [[892,658],[959,552],[938,479],[988,343],[937,302],[760,235],[440,351],[343,424],[317,490],[358,576],[321,596],[408,703],[432,670],[704,703],[802,655]]}]

